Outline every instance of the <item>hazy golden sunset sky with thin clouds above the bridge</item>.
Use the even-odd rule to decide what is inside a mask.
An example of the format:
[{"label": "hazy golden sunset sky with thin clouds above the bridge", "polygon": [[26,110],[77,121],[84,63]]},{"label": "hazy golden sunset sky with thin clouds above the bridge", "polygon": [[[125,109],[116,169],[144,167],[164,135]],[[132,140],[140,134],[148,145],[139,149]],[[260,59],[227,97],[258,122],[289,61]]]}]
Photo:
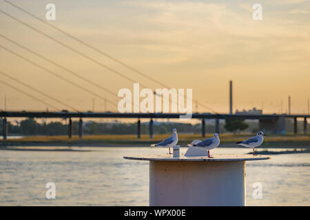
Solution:
[{"label": "hazy golden sunset sky with thin clouds above the bridge", "polygon": [[[56,5],[56,20],[47,21],[139,72],[176,89],[193,89],[193,110],[227,113],[229,80],[233,80],[234,111],[262,109],[307,113],[310,98],[310,1],[17,1],[19,7],[45,19],[45,5]],[[252,5],[262,5],[254,21]],[[2,11],[32,25],[87,57],[0,13],[1,36],[117,94],[133,90],[133,82],[163,88],[61,32],[37,21],[5,1]],[[55,102],[0,74],[0,80],[56,107],[79,111],[117,111],[120,98],[72,76],[63,69],[0,37],[0,44],[59,74],[83,89],[56,78],[0,47],[0,71],[60,100]],[[127,80],[129,78],[130,80]],[[5,98],[6,97],[6,98]],[[47,105],[0,82],[0,109],[42,111]],[[112,104],[114,103],[114,104]],[[281,104],[282,103],[282,104]],[[208,107],[205,109],[202,105]],[[282,107],[281,107],[282,106]],[[54,109],[48,107],[50,111]],[[70,110],[70,109],[68,109]]]}]

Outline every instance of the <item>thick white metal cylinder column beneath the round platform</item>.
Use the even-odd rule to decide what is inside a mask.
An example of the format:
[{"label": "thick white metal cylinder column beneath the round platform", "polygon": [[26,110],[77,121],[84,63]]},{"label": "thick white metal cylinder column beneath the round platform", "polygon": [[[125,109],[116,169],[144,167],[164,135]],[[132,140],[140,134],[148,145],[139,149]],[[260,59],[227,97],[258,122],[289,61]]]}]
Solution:
[{"label": "thick white metal cylinder column beneath the round platform", "polygon": [[149,206],[245,206],[245,161],[149,162]]}]

